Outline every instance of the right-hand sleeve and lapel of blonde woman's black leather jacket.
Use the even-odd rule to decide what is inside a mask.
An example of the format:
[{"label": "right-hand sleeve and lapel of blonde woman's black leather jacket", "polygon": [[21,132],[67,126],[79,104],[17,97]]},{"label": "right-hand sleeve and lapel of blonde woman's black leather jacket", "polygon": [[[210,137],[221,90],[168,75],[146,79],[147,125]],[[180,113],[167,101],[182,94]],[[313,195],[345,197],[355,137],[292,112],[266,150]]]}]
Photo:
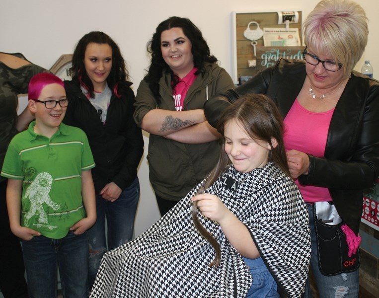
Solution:
[{"label": "right-hand sleeve and lapel of blonde woman's black leather jacket", "polygon": [[330,123],[325,156],[310,156],[303,185],[362,190],[379,175],[379,84],[352,75]]}]

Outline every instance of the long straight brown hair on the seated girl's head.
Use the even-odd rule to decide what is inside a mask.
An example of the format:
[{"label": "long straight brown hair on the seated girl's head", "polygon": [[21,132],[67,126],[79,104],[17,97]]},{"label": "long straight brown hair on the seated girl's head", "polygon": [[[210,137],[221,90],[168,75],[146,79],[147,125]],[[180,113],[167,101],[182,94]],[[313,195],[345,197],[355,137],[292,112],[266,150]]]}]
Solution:
[{"label": "long straight brown hair on the seated girl's head", "polygon": [[[287,176],[291,177],[284,148],[282,115],[267,95],[250,93],[242,95],[227,107],[218,122],[217,130],[223,135],[223,144],[219,161],[206,181],[205,188],[214,183],[225,171],[227,165],[231,163],[225,152],[224,138],[225,126],[230,120],[237,121],[253,140],[267,142],[272,148],[269,152],[268,161],[273,162]],[[272,145],[271,138],[278,142],[275,148]]]}]

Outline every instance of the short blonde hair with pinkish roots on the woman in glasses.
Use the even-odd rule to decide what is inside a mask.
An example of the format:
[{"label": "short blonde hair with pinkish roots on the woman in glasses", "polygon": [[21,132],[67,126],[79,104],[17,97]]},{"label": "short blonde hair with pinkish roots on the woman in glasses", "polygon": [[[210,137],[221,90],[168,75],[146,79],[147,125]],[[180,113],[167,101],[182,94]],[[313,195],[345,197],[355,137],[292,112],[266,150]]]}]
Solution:
[{"label": "short blonde hair with pinkish roots on the woman in glasses", "polygon": [[303,23],[306,46],[332,55],[348,77],[366,48],[369,28],[365,10],[351,0],[321,0]]}]

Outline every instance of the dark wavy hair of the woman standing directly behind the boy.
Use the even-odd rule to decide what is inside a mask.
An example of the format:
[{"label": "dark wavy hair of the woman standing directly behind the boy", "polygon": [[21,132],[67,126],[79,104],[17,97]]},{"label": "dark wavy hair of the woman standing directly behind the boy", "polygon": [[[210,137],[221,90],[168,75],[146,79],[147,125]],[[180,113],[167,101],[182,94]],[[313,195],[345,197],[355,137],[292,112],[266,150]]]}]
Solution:
[{"label": "dark wavy hair of the woman standing directly behind the boy", "polygon": [[84,67],[84,54],[85,49],[89,43],[107,44],[112,49],[112,69],[107,77],[107,84],[112,90],[113,94],[117,97],[125,92],[126,88],[130,85],[127,82],[129,75],[126,70],[124,58],[121,55],[120,48],[107,34],[101,31],[92,31],[85,34],[76,44],[73,55],[73,66],[71,74],[73,81],[84,86],[90,95],[94,97],[93,84],[88,77]]}]

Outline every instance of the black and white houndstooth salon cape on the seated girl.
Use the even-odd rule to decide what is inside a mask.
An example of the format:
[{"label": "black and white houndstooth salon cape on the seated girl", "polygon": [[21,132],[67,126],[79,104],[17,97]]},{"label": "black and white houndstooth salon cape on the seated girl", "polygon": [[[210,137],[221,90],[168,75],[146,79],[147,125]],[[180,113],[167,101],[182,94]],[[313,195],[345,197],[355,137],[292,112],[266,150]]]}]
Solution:
[{"label": "black and white houndstooth salon cape on the seated girl", "polygon": [[[252,277],[220,226],[198,211],[200,222],[221,246],[215,251],[195,229],[193,197],[201,184],[132,242],[102,258],[91,298],[245,297]],[[230,166],[206,190],[217,195],[249,228],[260,255],[288,297],[300,297],[308,273],[308,214],[295,185],[272,163],[249,173]]]}]

